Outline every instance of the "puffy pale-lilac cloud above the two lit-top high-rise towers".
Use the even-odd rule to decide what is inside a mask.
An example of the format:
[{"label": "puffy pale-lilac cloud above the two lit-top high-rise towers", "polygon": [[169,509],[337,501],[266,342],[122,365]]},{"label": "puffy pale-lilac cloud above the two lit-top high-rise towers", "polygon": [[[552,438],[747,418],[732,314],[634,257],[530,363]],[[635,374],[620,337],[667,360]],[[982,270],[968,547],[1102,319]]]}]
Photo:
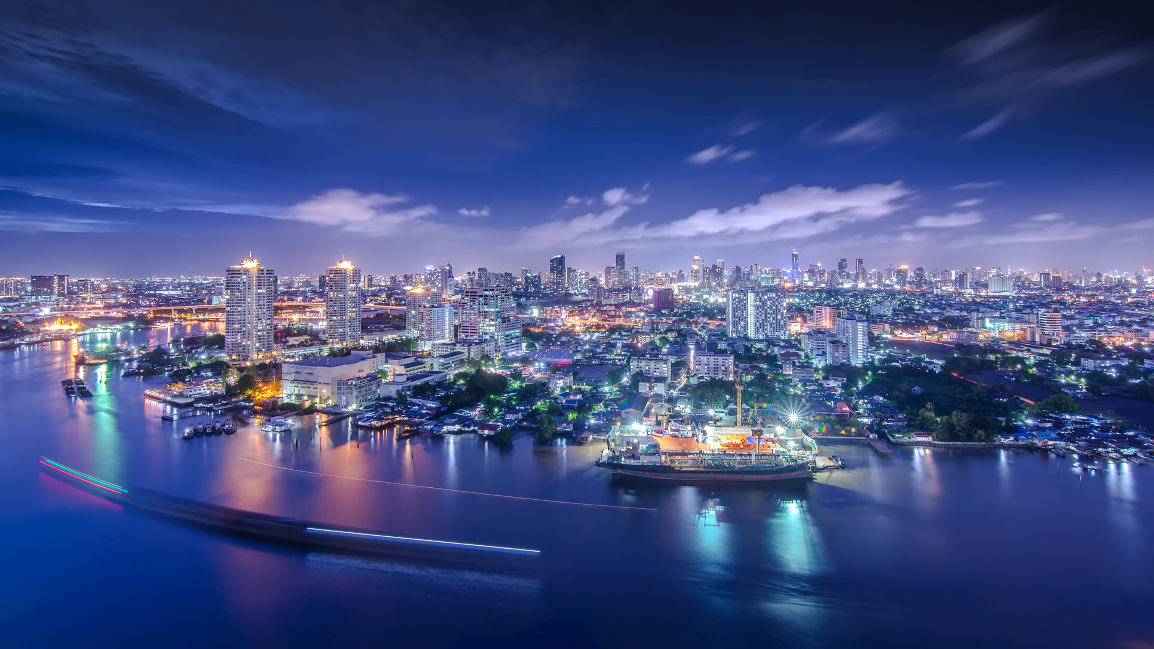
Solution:
[{"label": "puffy pale-lilac cloud above the two lit-top high-rise towers", "polygon": [[329,189],[292,206],[278,215],[278,218],[337,226],[346,232],[384,236],[436,214],[433,206],[400,208],[399,204],[405,202],[409,202],[409,196],[404,194],[362,194],[354,189]]}]

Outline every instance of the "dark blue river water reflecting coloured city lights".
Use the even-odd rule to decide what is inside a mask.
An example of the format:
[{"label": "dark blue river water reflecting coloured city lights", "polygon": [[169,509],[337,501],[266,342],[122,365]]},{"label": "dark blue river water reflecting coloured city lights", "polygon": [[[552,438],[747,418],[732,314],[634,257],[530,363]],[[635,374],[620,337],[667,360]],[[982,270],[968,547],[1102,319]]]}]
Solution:
[{"label": "dark blue river water reflecting coloured city lights", "polygon": [[[143,398],[162,378],[89,366],[95,396],[63,396],[76,345],[97,342],[0,352],[3,647],[1154,642],[1154,467],[846,445],[823,452],[848,469],[810,483],[709,490],[613,479],[593,467],[600,443],[398,441],[312,418],[186,441],[194,420]],[[458,569],[223,537],[66,486],[42,455],[231,507],[541,555]]]}]

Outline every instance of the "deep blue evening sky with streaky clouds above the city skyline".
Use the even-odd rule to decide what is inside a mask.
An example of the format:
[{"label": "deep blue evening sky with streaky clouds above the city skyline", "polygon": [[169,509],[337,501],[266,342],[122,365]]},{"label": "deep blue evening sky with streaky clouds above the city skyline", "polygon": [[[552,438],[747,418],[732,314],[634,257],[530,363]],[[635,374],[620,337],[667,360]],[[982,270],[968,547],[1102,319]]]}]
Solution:
[{"label": "deep blue evening sky with streaky clouds above the city skyline", "polygon": [[1154,15],[6,2],[0,275],[1154,266]]}]

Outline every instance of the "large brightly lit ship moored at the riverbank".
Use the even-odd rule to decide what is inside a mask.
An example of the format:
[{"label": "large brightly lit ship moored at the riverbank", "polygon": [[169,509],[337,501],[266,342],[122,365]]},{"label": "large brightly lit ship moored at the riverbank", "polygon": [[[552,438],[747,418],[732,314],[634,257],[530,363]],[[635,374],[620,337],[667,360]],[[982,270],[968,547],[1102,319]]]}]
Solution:
[{"label": "large brightly lit ship moored at the riverbank", "polygon": [[800,431],[760,428],[612,433],[597,465],[614,473],[685,483],[812,478],[817,445]]}]

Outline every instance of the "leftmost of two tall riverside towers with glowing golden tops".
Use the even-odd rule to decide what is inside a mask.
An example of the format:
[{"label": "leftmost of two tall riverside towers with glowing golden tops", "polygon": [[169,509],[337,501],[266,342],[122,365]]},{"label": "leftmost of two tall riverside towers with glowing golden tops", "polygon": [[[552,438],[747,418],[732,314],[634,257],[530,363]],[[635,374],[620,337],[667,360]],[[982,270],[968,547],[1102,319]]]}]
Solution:
[{"label": "leftmost of two tall riverside towers with glowing golden tops", "polygon": [[224,349],[230,360],[250,363],[272,356],[276,299],[277,276],[257,260],[246,259],[225,270]]}]

